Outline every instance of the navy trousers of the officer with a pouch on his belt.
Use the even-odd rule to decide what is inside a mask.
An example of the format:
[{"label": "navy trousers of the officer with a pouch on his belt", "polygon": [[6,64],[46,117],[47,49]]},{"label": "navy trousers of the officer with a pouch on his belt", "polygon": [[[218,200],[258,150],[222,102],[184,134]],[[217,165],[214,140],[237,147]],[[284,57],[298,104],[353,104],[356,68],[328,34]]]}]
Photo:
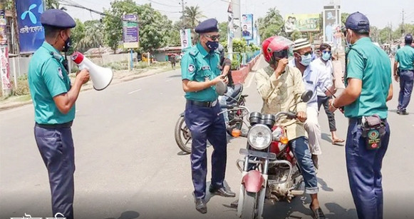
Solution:
[{"label": "navy trousers of the officer with a pouch on his belt", "polygon": [[386,123],[381,148],[366,149],[361,136],[361,125],[356,119],[349,120],[346,137],[346,169],[356,212],[360,219],[383,218],[383,185],[381,167],[390,140],[390,127]]}]

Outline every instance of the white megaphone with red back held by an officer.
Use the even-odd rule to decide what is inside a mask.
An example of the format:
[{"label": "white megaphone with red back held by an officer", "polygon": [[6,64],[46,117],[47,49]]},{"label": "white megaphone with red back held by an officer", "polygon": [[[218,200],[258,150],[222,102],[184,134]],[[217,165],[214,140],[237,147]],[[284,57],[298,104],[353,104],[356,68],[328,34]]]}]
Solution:
[{"label": "white megaphone with red back held by an officer", "polygon": [[113,78],[113,72],[110,68],[103,68],[95,65],[89,58],[86,58],[80,52],[76,51],[71,56],[72,61],[76,63],[79,70],[87,68],[89,70],[90,79],[93,83],[93,88],[96,91],[101,91],[109,86]]}]

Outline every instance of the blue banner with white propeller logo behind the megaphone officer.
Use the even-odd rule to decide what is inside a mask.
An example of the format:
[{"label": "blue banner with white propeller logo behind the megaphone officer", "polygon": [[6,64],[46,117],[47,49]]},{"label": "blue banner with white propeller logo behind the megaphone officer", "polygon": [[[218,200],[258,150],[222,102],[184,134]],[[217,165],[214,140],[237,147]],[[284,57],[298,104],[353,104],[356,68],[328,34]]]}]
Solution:
[{"label": "blue banner with white propeller logo behind the megaphone officer", "polygon": [[40,21],[42,13],[42,0],[16,0],[21,54],[33,53],[43,44],[45,34]]}]

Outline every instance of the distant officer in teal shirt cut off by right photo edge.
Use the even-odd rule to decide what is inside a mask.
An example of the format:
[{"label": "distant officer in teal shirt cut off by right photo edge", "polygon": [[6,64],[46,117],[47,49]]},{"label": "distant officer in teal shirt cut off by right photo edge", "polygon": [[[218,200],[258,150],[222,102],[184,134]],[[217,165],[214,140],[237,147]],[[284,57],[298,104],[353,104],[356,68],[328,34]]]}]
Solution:
[{"label": "distant officer in teal shirt cut off by right photo edge", "polygon": [[397,113],[408,115],[407,106],[410,103],[414,82],[414,48],[411,47],[413,36],[405,36],[405,46],[398,49],[395,54],[394,78],[400,82],[400,93],[398,95]]}]

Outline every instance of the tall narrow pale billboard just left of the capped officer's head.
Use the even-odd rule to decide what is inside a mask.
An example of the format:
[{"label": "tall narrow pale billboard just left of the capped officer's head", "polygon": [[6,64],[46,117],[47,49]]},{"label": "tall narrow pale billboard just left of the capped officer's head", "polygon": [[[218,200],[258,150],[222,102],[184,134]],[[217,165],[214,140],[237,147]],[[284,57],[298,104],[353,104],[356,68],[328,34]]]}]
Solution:
[{"label": "tall narrow pale billboard just left of the capped officer's head", "polygon": [[[339,6],[324,6],[324,42],[334,44],[341,37],[341,12]],[[339,34],[336,34],[337,31]]]}]

